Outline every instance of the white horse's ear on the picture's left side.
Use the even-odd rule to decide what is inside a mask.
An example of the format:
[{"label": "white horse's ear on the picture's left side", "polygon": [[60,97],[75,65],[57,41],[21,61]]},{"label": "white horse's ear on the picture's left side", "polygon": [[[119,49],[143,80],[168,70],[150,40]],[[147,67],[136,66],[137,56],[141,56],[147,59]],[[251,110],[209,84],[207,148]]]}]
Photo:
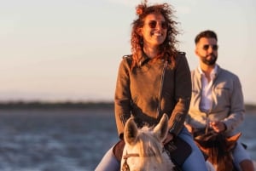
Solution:
[{"label": "white horse's ear on the picture's left side", "polygon": [[125,123],[125,133],[124,133],[125,143],[130,145],[137,142],[137,125],[133,118],[130,117]]}]

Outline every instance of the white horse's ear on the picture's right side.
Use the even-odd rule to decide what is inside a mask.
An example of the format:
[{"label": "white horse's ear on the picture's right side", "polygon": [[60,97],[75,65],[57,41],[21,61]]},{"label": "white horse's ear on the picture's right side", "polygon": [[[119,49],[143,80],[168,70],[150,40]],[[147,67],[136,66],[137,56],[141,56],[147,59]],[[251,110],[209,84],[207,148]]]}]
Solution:
[{"label": "white horse's ear on the picture's right side", "polygon": [[160,123],[154,127],[153,132],[160,141],[166,139],[168,133],[168,116],[166,113],[161,117]]}]

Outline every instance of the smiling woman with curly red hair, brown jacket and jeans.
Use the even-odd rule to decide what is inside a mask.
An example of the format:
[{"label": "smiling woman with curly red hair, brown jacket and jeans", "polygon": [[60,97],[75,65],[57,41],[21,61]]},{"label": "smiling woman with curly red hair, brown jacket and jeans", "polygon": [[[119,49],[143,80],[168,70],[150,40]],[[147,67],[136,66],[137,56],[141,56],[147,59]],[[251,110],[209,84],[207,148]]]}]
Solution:
[{"label": "smiling woman with curly red hair, brown jacket and jeans", "polygon": [[[116,124],[123,140],[129,117],[134,117],[138,127],[153,126],[166,113],[170,131],[163,143],[166,146],[177,137],[187,142],[192,152],[180,167],[183,171],[204,171],[207,167],[201,151],[183,127],[189,110],[191,78],[185,54],[175,47],[178,31],[172,18],[172,8],[167,3],[147,6],[145,2],[137,6],[131,31],[132,54],[119,65],[114,97]],[[119,170],[119,161],[113,155],[115,147],[103,157],[96,171]]]}]

